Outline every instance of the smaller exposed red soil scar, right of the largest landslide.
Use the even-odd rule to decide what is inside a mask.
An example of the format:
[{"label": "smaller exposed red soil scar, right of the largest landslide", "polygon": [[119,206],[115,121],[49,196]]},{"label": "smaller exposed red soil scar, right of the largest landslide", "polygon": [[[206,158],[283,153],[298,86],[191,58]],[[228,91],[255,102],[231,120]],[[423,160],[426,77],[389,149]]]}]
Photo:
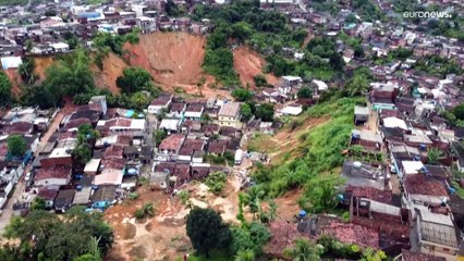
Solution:
[{"label": "smaller exposed red soil scar, right of the largest landslide", "polygon": [[[255,87],[253,77],[262,74],[262,69],[266,61],[257,52],[251,50],[248,47],[239,47],[233,50],[233,66],[240,76],[243,86],[247,84]],[[272,74],[266,74],[268,84],[274,85],[279,79]]]}]

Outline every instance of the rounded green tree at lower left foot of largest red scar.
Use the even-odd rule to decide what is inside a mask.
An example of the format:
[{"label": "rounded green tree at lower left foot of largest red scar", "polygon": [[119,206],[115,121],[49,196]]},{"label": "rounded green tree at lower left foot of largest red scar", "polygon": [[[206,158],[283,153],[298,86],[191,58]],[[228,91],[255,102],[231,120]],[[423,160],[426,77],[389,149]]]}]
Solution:
[{"label": "rounded green tree at lower left foot of largest red scar", "polygon": [[122,75],[117,78],[117,86],[124,94],[134,94],[141,90],[152,88],[152,77],[150,73],[141,67],[124,69]]}]

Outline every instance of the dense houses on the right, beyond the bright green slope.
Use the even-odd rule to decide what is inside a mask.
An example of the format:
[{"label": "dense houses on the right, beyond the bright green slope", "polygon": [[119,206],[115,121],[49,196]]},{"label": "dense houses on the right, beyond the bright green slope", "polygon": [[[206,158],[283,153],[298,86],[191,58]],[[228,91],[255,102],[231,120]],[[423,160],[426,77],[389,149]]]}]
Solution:
[{"label": "dense houses on the right, beyond the bright green slope", "polygon": [[[367,105],[354,108],[358,127],[341,174],[340,201],[350,223],[318,216],[303,220],[300,232],[402,254],[401,260],[456,260],[464,224],[464,200],[456,192],[464,188],[459,174],[464,129],[439,114],[438,108],[461,99],[447,82],[430,85],[426,96],[390,82],[370,85]],[[431,95],[437,89],[441,99]]]}]

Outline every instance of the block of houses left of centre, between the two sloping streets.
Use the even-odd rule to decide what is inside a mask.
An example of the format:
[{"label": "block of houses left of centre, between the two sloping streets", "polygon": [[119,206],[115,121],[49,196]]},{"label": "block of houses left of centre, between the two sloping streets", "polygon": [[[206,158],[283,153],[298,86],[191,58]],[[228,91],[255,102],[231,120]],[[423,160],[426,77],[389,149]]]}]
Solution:
[{"label": "block of houses left of centre, between the two sloping streets", "polygon": [[[108,109],[106,98],[94,97],[69,114],[61,112],[59,125],[50,126],[48,137],[32,150],[34,161],[19,208],[27,209],[36,197],[46,207],[65,211],[71,206],[105,209],[133,189],[141,167],[151,161],[151,148],[144,144],[145,117],[124,109]],[[75,164],[78,127],[97,130],[90,144],[91,159],[85,166]]]}]

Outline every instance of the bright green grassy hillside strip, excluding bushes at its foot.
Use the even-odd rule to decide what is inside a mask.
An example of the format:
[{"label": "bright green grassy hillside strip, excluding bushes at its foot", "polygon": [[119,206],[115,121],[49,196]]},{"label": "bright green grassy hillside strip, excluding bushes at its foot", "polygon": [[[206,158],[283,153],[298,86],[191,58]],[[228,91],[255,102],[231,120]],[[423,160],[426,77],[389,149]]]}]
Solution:
[{"label": "bright green grassy hillside strip, excluding bushes at its foot", "polygon": [[[305,112],[303,117],[328,117],[315,127],[298,132],[300,146],[294,147],[286,161],[278,165],[260,166],[253,178],[259,189],[270,196],[304,187],[310,179],[322,173],[335,173],[343,163],[341,151],[349,145],[353,128],[354,105],[363,98],[342,98],[317,104]],[[252,144],[253,145],[253,144]],[[279,162],[280,163],[280,162]]]}]

